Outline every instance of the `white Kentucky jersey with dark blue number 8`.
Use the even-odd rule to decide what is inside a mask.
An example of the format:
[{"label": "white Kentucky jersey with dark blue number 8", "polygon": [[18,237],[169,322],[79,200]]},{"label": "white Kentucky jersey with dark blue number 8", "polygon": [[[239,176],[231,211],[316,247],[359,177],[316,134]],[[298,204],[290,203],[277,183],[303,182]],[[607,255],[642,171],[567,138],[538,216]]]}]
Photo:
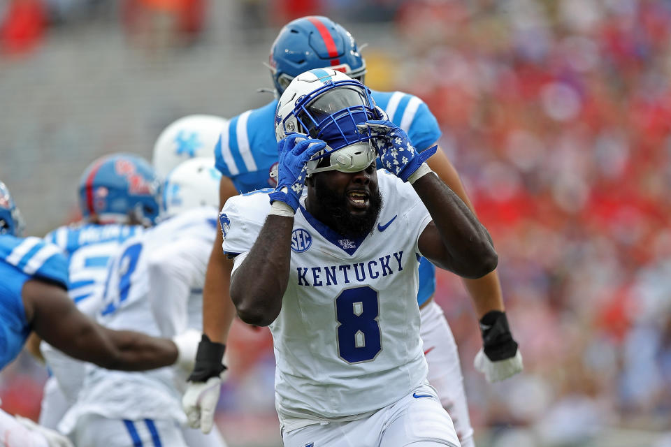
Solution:
[{"label": "white Kentucky jersey with dark blue number 8", "polygon": [[[419,337],[419,235],[431,216],[410,184],[377,171],[383,205],[373,232],[349,240],[304,208],[294,217],[289,285],[270,325],[277,412],[305,420],[364,417],[426,379]],[[238,268],[270,210],[268,191],[236,196],[219,219]]]}]

